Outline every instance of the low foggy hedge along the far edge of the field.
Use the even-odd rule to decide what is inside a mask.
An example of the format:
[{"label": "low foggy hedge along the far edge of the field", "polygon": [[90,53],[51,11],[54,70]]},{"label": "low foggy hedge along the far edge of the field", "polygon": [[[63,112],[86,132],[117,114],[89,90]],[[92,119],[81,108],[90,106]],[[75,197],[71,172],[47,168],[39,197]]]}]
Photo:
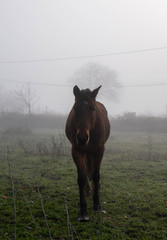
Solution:
[{"label": "low foggy hedge along the far edge of the field", "polygon": [[[4,133],[31,133],[34,128],[64,129],[66,115],[62,114],[23,114],[16,112],[0,113],[0,131]],[[136,116],[125,113],[110,117],[111,131],[117,132],[157,132],[167,133],[167,116]]]}]

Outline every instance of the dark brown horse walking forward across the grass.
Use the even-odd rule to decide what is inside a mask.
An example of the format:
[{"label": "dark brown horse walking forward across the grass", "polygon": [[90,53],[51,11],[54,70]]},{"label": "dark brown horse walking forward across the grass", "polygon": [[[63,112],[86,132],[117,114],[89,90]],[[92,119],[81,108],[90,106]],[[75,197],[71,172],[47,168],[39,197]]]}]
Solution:
[{"label": "dark brown horse walking forward across the grass", "polygon": [[93,209],[100,210],[99,180],[100,163],[104,144],[110,133],[110,123],[103,104],[96,101],[98,87],[93,91],[73,88],[75,103],[66,122],[66,136],[72,144],[72,157],[78,171],[80,212],[78,221],[89,220],[86,195],[89,195],[89,180],[93,181]]}]

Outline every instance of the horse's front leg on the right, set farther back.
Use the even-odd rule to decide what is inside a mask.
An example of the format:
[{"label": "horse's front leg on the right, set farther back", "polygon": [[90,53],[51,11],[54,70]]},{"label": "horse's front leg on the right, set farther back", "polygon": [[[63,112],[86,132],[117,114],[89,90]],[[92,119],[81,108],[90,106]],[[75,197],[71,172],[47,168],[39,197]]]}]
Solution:
[{"label": "horse's front leg on the right, set farther back", "polygon": [[99,200],[99,181],[100,181],[100,164],[104,153],[104,147],[98,149],[93,159],[93,209],[95,211],[101,210]]}]

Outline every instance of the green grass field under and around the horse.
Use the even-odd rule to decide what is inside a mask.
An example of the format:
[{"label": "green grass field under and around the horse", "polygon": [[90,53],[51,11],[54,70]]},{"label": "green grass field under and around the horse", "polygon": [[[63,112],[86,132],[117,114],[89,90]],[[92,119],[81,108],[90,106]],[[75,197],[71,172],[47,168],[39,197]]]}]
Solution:
[{"label": "green grass field under and around the horse", "polygon": [[[53,137],[54,135],[54,137]],[[77,172],[63,133],[0,135],[0,239],[167,240],[167,135],[112,133],[100,199],[77,222]]]}]

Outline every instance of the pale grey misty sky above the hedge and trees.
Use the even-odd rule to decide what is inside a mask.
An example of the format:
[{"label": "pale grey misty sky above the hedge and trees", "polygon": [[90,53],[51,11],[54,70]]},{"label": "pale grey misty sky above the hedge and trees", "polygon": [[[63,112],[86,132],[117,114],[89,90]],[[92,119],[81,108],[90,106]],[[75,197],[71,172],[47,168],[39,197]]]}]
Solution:
[{"label": "pale grey misty sky above the hedge and trees", "polygon": [[[126,53],[155,48],[164,49]],[[41,110],[66,113],[74,101],[70,79],[90,62],[114,70],[122,85],[119,102],[101,99],[111,115],[166,114],[167,1],[0,0],[1,89],[44,84],[32,85]]]}]

